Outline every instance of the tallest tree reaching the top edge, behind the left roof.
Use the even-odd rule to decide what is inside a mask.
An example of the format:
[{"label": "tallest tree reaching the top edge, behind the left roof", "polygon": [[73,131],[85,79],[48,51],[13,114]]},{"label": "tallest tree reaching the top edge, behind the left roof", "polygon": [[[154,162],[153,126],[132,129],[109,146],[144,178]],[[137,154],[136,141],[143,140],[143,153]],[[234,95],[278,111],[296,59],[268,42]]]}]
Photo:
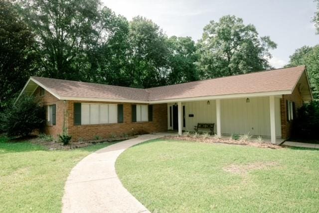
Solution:
[{"label": "tallest tree reaching the top edge, behind the left roof", "polygon": [[99,0],[22,0],[36,34],[40,74],[80,80],[90,64],[88,52],[103,40]]}]

